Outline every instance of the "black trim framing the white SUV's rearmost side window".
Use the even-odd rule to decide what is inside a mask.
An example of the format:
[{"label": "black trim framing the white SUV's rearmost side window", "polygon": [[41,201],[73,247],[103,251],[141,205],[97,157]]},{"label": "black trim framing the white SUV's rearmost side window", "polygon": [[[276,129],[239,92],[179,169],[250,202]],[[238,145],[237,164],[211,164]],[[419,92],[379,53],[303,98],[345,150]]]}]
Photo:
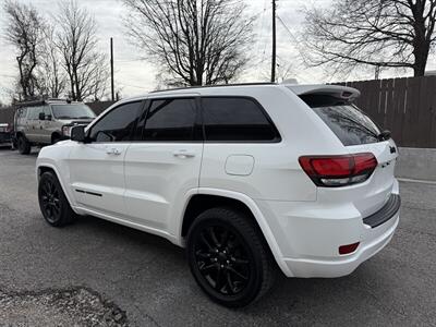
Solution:
[{"label": "black trim framing the white SUV's rearmost side window", "polygon": [[[276,124],[274,123],[274,121],[271,120],[271,118],[269,117],[268,112],[265,110],[265,108],[261,105],[261,102],[251,96],[240,96],[240,95],[207,95],[207,96],[201,96],[199,97],[199,101],[201,101],[201,118],[202,118],[202,128],[203,128],[203,140],[204,143],[211,143],[211,144],[268,144],[268,143],[280,143],[282,141],[281,135],[276,126]],[[276,134],[275,138],[272,140],[252,140],[252,141],[246,141],[246,140],[235,140],[235,141],[208,141],[206,138],[206,130],[205,130],[205,125],[204,125],[204,107],[203,107],[203,99],[205,98],[226,98],[226,99],[247,99],[251,100],[252,102],[254,102],[259,109],[261,112],[265,116],[266,120],[268,121],[268,123],[272,126],[274,132]]]}]

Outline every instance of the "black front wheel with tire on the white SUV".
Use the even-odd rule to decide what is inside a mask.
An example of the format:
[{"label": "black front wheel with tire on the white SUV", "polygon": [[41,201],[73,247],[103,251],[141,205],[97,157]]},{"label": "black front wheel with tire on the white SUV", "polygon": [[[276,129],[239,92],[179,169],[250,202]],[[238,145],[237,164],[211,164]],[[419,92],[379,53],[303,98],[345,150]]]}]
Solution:
[{"label": "black front wheel with tire on the white SUV", "polygon": [[74,221],[76,214],[70,206],[62,186],[53,172],[45,172],[39,179],[38,202],[44,219],[53,227]]}]

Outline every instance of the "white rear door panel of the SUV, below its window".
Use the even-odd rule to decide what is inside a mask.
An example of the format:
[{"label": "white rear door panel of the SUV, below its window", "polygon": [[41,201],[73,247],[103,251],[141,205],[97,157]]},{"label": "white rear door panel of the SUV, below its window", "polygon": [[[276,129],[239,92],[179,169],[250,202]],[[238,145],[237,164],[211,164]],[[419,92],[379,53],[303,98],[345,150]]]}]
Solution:
[{"label": "white rear door panel of the SUV, below its window", "polygon": [[124,160],[126,215],[174,233],[184,195],[198,187],[202,153],[202,143],[133,143]]}]

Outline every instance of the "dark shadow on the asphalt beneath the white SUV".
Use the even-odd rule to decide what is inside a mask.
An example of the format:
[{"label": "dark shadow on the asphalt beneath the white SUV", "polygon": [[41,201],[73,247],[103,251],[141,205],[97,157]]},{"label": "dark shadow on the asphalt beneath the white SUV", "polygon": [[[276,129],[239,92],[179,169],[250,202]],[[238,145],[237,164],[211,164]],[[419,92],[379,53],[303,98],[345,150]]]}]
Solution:
[{"label": "dark shadow on the asphalt beneath the white SUV", "polygon": [[[292,322],[298,323],[295,319],[300,316],[305,323],[317,324],[319,323],[319,319],[317,319],[319,315],[325,315],[328,318],[329,312],[331,312],[342,317],[340,323],[344,322],[344,317],[350,317],[350,320],[347,322],[352,323],[352,317],[362,315],[362,306],[374,303],[378,296],[383,298],[382,290],[372,289],[370,286],[372,281],[380,279],[382,272],[377,272],[377,269],[374,269],[372,265],[364,264],[350,276],[331,279],[286,278],[281,271],[278,271],[276,284],[265,298],[247,307],[230,310],[215,304],[202,293],[189,272],[183,249],[162,238],[90,216],[80,217],[75,226],[92,233],[97,231],[104,233],[116,244],[125,242],[136,244],[140,251],[144,251],[143,245],[146,244],[147,251],[154,251],[157,254],[155,265],[165,266],[168,261],[171,261],[177,269],[183,270],[181,272],[182,283],[185,287],[189,286],[190,292],[192,292],[191,305],[226,314],[229,319],[233,319],[232,317],[243,319],[245,317],[249,320],[256,322],[264,320],[265,317],[269,316],[275,317],[275,323],[279,325],[288,325]],[[135,267],[132,267],[133,269]],[[137,278],[148,280],[147,278],[155,277],[137,276]],[[156,278],[159,277],[156,276]],[[290,318],[291,320],[289,320]]]}]

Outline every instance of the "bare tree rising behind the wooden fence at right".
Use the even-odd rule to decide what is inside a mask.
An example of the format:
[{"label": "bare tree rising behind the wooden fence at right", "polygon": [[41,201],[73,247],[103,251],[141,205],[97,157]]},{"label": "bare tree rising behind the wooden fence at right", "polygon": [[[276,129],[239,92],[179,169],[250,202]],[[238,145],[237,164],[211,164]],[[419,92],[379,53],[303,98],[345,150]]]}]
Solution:
[{"label": "bare tree rising behind the wooden fence at right", "polygon": [[436,0],[334,0],[306,10],[304,37],[313,65],[413,69],[424,75],[434,47]]}]

